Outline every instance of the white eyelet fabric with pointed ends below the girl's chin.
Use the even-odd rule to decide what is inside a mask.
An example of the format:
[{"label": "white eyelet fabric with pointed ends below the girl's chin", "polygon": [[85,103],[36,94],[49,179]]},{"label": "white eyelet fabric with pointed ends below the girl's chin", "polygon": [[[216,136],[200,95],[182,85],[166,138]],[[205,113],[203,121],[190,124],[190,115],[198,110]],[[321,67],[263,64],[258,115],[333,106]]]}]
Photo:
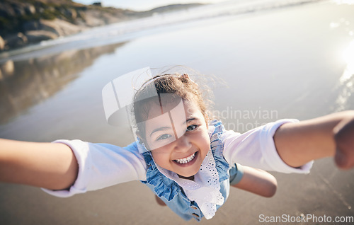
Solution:
[{"label": "white eyelet fabric with pointed ends below the girl's chin", "polygon": [[219,173],[211,149],[202,161],[198,173],[194,175],[194,180],[179,178],[176,173],[161,168],[157,164],[156,167],[167,178],[176,181],[190,200],[197,202],[206,219],[214,217],[217,204],[224,204],[224,197],[220,192]]}]

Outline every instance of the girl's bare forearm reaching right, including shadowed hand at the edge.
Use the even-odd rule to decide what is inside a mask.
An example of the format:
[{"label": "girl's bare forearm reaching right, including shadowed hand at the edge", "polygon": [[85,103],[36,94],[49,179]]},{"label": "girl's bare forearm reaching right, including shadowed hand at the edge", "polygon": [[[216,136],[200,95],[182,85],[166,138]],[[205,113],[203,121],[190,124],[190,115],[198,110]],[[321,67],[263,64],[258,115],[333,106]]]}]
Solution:
[{"label": "girl's bare forearm reaching right, including shadowed hand at the edge", "polygon": [[354,166],[353,111],[286,123],[278,128],[273,138],[278,154],[289,166],[299,167],[314,159],[335,155],[340,168]]}]

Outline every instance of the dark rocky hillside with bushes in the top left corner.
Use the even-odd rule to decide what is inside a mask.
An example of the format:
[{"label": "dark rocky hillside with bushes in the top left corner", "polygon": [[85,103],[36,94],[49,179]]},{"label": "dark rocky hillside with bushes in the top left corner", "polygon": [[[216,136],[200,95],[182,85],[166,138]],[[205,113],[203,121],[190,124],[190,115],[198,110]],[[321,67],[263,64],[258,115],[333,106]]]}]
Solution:
[{"label": "dark rocky hillside with bushes in the top left corner", "polygon": [[102,7],[99,2],[87,6],[71,0],[1,0],[0,51],[72,35],[99,25],[199,5],[172,5],[137,12]]}]

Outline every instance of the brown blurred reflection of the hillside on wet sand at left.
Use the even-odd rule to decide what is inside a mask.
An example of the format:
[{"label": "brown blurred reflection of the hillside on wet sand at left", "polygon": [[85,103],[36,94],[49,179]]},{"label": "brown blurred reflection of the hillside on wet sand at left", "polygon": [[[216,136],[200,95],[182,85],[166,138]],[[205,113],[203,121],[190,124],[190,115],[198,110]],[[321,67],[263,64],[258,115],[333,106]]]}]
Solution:
[{"label": "brown blurred reflection of the hillside on wet sand at left", "polygon": [[125,42],[0,64],[0,123],[54,95],[95,59],[122,45]]}]

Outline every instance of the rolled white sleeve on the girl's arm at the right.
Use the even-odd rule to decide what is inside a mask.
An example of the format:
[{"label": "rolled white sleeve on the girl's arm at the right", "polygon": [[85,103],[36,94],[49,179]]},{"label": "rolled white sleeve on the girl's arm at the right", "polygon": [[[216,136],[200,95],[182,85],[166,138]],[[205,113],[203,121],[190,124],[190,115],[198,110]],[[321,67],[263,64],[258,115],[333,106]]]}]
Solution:
[{"label": "rolled white sleeve on the girl's arm at the right", "polygon": [[278,155],[273,140],[275,131],[286,122],[298,120],[278,120],[262,127],[251,129],[249,132],[239,134],[227,131],[222,135],[224,140],[224,158],[230,164],[240,163],[244,166],[261,168],[265,171],[278,171],[282,173],[309,173],[313,161],[294,168],[287,166]]}]

